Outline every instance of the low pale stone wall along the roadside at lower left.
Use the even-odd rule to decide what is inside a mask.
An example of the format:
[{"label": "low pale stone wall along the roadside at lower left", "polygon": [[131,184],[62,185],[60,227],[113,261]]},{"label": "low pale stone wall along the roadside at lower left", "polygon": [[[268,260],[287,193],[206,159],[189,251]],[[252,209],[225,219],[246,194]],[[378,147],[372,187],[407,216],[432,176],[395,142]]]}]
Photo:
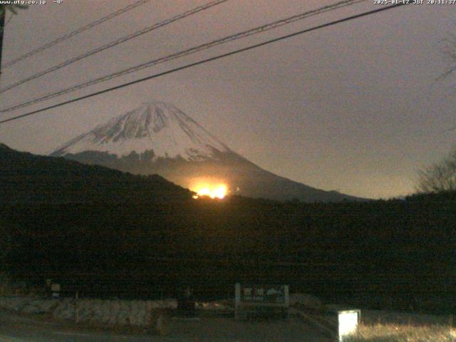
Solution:
[{"label": "low pale stone wall along the roadside at lower left", "polygon": [[53,318],[102,323],[109,326],[150,326],[151,314],[162,309],[176,309],[175,299],[160,301],[45,299],[33,297],[0,297],[0,308],[21,314],[49,314]]}]

